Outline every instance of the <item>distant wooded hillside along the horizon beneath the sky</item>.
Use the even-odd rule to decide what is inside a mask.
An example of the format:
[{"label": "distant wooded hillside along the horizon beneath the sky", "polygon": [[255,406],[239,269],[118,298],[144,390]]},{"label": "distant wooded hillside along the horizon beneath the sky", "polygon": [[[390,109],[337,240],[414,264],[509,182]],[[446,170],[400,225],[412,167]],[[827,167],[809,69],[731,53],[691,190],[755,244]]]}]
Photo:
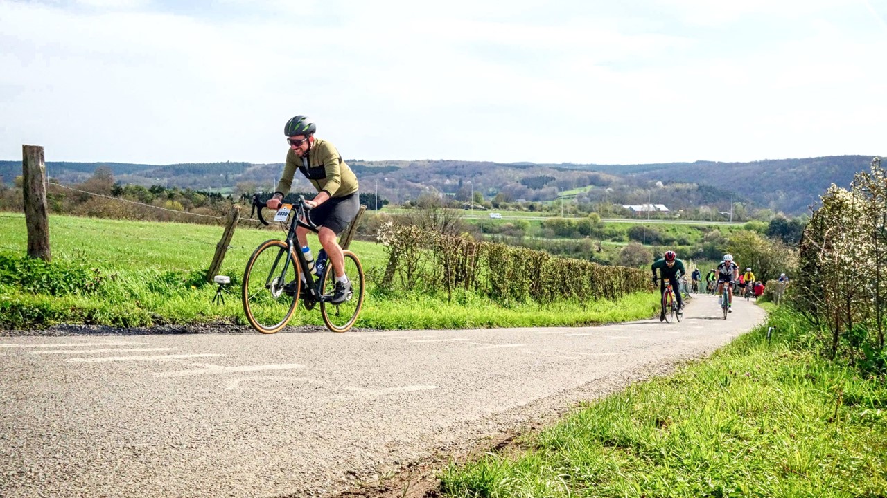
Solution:
[{"label": "distant wooded hillside along the horizon beneath the sky", "polygon": [[[869,169],[872,156],[832,156],[753,162],[696,161],[638,165],[534,164],[460,160],[346,160],[361,190],[378,190],[381,198],[401,203],[423,192],[468,198],[481,192],[506,200],[549,201],[563,191],[585,192],[573,202],[642,204],[649,200],[672,210],[709,206],[728,210],[736,202],[751,208],[804,214],[831,183],[847,187],[853,175]],[[247,162],[145,165],[114,162],[48,162],[48,175],[62,183],[82,182],[97,167],[110,167],[120,183],[194,190],[232,188],[251,183],[271,190],[282,163]],[[0,161],[0,177],[11,184],[21,175],[20,161]],[[306,188],[298,175],[294,188]]]}]

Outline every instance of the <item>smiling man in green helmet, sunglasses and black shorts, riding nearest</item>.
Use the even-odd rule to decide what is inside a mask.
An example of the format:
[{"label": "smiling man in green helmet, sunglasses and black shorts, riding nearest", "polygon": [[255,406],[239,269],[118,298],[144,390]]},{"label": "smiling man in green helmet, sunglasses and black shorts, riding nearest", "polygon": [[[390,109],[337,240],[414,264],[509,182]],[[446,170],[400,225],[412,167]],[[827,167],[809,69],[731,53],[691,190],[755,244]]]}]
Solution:
[{"label": "smiling man in green helmet, sunglasses and black shorts, riding nearest", "polygon": [[[336,282],[333,304],[341,304],[351,295],[351,283],[345,275],[345,260],[336,237],[357,216],[360,199],[357,194],[357,176],[341,159],[333,144],[314,136],[317,125],[309,117],[298,115],[287,121],[283,134],[287,136],[289,152],[277,191],[267,206],[277,209],[293,186],[293,175],[298,169],[318,191],[313,200],[305,201],[311,208],[310,221],[319,227],[318,239],[333,265]],[[302,247],[308,246],[308,229],[295,230]]]}]

